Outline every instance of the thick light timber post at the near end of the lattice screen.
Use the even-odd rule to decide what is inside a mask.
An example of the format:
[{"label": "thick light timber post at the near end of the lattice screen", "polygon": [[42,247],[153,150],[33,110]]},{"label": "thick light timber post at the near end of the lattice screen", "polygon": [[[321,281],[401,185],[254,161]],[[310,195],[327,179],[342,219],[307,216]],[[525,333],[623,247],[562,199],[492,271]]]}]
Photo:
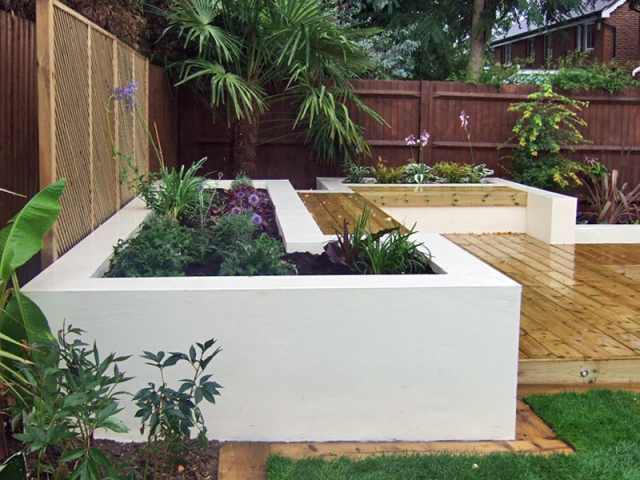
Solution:
[{"label": "thick light timber post at the near end of the lattice screen", "polygon": [[[55,97],[53,0],[36,0],[36,58],[38,75],[38,158],[40,189],[55,182]],[[46,268],[58,256],[54,225],[40,254],[41,268]]]}]

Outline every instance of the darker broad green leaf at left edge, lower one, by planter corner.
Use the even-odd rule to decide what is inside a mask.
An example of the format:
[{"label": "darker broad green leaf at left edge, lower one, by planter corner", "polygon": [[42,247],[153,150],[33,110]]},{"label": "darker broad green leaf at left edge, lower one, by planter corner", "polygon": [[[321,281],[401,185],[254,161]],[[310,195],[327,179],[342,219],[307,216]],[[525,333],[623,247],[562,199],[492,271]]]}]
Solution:
[{"label": "darker broad green leaf at left edge, lower one, by planter corner", "polygon": [[[0,315],[0,333],[26,345],[45,345],[55,342],[47,318],[33,301],[15,292]],[[23,348],[15,342],[2,342],[2,350],[21,358],[28,358]],[[31,358],[39,358],[37,348]]]}]

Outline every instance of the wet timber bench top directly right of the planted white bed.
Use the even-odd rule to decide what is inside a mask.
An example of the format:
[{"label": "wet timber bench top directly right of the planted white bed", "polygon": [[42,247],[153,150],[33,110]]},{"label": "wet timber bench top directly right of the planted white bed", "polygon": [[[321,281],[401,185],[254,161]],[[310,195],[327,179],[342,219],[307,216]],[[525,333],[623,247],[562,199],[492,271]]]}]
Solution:
[{"label": "wet timber bench top directly right of the planted white bed", "polygon": [[406,231],[404,226],[357,193],[298,192],[298,195],[325,235],[336,233],[336,229],[342,231],[344,220],[349,224],[351,231],[365,206],[370,211],[369,224],[373,231],[390,226],[397,226]]}]

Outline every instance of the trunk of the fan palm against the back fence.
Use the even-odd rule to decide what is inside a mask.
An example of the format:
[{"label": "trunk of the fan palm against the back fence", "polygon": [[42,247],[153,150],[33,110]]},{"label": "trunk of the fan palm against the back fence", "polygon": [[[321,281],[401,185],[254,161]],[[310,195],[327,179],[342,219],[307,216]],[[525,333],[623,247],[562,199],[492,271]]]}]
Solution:
[{"label": "trunk of the fan palm against the back fence", "polygon": [[231,175],[245,173],[253,178],[257,173],[258,127],[260,115],[249,119],[236,119],[229,129],[229,169]]}]

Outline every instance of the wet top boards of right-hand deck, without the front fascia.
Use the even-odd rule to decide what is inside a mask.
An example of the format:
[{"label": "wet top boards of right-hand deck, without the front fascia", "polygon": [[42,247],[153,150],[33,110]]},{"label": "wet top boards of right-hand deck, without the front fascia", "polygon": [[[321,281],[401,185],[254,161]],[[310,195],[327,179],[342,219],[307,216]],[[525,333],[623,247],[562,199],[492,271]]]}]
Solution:
[{"label": "wet top boards of right-hand deck, without the front fascia", "polygon": [[526,235],[447,237],[523,284],[521,360],[575,359],[576,351],[586,358],[638,356],[640,309],[634,297],[640,286],[633,289],[634,279],[576,253],[582,246],[550,246]]}]

